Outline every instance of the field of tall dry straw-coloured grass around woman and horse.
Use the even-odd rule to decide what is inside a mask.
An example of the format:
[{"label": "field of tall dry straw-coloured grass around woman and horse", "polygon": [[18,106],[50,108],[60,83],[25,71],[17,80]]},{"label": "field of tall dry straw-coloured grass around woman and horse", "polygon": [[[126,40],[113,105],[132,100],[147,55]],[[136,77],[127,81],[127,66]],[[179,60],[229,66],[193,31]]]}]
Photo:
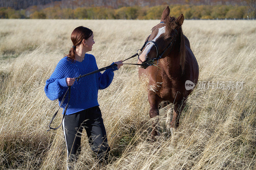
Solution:
[{"label": "field of tall dry straw-coloured grass around woman and horse", "polygon": [[[158,23],[1,19],[0,169],[66,169],[62,129],[46,132],[58,102],[45,96],[44,86],[72,46],[74,28],[93,30],[96,43],[90,53],[100,68],[136,53]],[[124,65],[110,87],[99,91],[111,147],[110,163],[101,169],[256,169],[256,21],[185,20],[182,28],[202,84],[189,96],[180,127],[168,137],[168,105],[160,110],[161,138],[147,140],[147,89],[138,80],[137,66]],[[208,88],[208,81],[214,87]],[[221,82],[233,86],[217,88]],[[76,169],[99,169],[85,131]]]}]

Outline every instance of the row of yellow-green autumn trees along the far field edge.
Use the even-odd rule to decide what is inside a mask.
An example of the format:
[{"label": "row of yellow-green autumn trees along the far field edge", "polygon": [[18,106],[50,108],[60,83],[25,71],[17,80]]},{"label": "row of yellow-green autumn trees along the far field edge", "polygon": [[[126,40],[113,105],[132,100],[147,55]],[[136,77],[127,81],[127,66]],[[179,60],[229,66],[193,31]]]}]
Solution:
[{"label": "row of yellow-green autumn trees along the far field edge", "polygon": [[[38,10],[36,6],[27,10],[0,8],[0,18],[31,19],[159,19],[167,5],[153,7],[107,7],[61,8],[53,6]],[[256,18],[255,11],[247,6],[233,5],[169,5],[170,14],[178,17],[183,13],[185,19],[224,19],[224,18]]]}]

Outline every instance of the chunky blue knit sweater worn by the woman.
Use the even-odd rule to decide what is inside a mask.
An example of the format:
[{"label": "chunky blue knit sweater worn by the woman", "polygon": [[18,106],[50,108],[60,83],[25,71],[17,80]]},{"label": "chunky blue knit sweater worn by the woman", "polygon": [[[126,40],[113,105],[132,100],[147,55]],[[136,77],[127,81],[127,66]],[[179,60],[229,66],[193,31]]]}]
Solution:
[{"label": "chunky blue knit sweater worn by the woman", "polygon": [[[85,54],[82,62],[67,60],[67,56],[59,61],[54,72],[46,81],[44,92],[50,100],[59,99],[60,102],[68,89],[66,78],[78,77],[80,74],[87,74],[98,70],[95,57],[92,54]],[[70,115],[81,110],[94,106],[99,106],[98,90],[107,88],[113,80],[117,67],[105,70],[103,74],[95,73],[75,81],[71,86],[71,97],[68,103],[68,95],[62,104],[62,108],[68,108],[66,115]],[[64,112],[64,109],[63,109]],[[62,112],[62,114],[63,114]]]}]

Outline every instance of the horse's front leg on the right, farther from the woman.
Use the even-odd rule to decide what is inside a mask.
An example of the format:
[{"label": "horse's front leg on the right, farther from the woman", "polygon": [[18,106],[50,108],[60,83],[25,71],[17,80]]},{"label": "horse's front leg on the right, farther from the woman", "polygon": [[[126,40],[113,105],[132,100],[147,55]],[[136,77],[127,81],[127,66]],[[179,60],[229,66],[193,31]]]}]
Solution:
[{"label": "horse's front leg on the right, farther from the woman", "polygon": [[180,125],[180,113],[184,109],[186,105],[186,99],[180,101],[179,103],[175,103],[173,107],[173,118],[171,122],[171,134],[173,135],[176,128]]}]

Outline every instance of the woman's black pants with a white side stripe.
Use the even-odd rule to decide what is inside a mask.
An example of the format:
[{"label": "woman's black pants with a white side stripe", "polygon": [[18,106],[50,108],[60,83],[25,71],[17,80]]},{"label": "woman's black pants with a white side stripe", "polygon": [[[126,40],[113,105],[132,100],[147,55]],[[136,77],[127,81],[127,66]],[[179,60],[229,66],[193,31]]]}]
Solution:
[{"label": "woman's black pants with a white side stripe", "polygon": [[67,144],[68,166],[81,152],[81,134],[86,130],[90,147],[100,163],[107,163],[108,139],[99,106],[66,115],[63,120]]}]

